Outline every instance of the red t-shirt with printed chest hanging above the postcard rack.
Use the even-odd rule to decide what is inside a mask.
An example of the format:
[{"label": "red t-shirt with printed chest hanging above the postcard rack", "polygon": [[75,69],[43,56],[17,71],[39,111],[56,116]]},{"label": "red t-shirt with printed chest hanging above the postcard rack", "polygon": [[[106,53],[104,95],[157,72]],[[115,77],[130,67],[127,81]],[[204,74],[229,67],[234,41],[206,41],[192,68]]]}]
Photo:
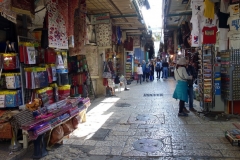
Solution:
[{"label": "red t-shirt with printed chest hanging above the postcard rack", "polygon": [[203,44],[215,44],[217,27],[203,27]]}]

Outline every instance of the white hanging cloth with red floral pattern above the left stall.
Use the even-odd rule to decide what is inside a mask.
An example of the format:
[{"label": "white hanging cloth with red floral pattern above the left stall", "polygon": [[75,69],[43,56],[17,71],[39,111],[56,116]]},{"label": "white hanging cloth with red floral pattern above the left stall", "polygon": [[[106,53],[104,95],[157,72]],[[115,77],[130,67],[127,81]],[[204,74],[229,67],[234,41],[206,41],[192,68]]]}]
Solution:
[{"label": "white hanging cloth with red floral pattern above the left stall", "polygon": [[49,47],[68,49],[68,1],[47,0]]}]

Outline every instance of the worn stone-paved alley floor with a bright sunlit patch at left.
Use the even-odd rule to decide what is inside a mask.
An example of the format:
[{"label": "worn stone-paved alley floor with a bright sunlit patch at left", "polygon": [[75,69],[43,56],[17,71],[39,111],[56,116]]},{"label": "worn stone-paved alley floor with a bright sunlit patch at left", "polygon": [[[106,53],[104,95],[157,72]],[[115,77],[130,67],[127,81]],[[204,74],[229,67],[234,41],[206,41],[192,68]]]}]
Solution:
[{"label": "worn stone-paved alley floor with a bright sunlit patch at left", "polygon": [[209,121],[193,113],[178,117],[171,78],[129,87],[116,97],[94,101],[87,122],[42,160],[240,159],[239,147],[224,137],[237,119]]}]

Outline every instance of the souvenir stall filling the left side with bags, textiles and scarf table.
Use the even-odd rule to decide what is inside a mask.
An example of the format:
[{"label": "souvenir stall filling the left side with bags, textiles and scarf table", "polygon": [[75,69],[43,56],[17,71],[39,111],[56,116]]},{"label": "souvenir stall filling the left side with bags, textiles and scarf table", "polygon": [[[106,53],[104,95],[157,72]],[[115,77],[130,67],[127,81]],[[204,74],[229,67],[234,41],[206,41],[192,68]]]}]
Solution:
[{"label": "souvenir stall filling the left side with bags, textiles and scarf table", "polygon": [[13,152],[33,141],[38,159],[86,121],[94,95],[86,53],[97,53],[86,46],[86,4],[3,0],[0,11],[0,141]]}]

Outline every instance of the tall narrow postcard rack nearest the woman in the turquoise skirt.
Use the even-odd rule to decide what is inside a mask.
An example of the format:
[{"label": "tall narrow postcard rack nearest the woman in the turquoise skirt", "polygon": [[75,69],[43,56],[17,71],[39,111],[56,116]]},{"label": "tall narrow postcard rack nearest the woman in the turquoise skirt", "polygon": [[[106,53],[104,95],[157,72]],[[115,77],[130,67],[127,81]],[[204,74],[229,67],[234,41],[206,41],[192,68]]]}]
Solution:
[{"label": "tall narrow postcard rack nearest the woman in the turquoise skirt", "polygon": [[199,95],[201,106],[205,111],[210,107],[214,107],[214,46],[203,45],[202,52],[199,55]]}]

